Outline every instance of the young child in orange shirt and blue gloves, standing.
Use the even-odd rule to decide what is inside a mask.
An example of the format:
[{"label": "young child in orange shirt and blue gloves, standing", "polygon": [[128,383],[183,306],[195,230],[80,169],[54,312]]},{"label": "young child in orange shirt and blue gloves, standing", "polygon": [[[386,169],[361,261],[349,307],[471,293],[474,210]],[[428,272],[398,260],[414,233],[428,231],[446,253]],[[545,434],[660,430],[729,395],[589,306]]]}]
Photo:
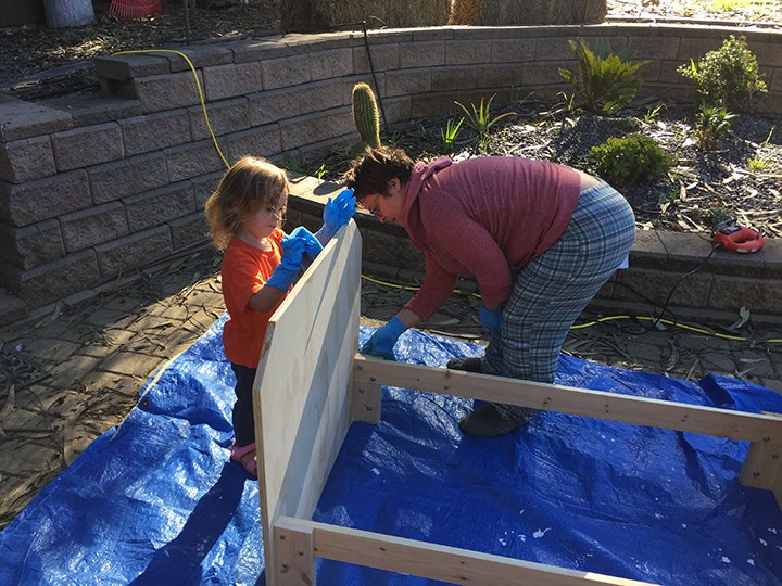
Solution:
[{"label": "young child in orange shirt and blue gloves, standing", "polygon": [[286,235],[281,226],[288,192],[282,169],[245,156],[228,169],[205,206],[212,241],[225,251],[223,297],[229,319],[223,345],[237,380],[230,458],[253,476],[257,458],[252,385],[268,319],[288,294],[304,254],[314,258],[355,212],[353,192],[344,190],[328,200],[324,227],[316,234],[300,227]]}]

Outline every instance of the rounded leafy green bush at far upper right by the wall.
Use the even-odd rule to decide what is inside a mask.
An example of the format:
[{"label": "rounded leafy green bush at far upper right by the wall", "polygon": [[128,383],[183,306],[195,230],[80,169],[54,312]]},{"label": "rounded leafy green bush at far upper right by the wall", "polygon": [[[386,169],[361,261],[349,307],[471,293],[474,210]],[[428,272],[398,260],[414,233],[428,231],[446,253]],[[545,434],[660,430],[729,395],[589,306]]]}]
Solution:
[{"label": "rounded leafy green bush at far upper right by the wall", "polygon": [[768,91],[745,37],[736,39],[731,35],[719,49],[709,51],[697,63],[691,59],[690,65],[680,65],[677,71],[695,81],[702,104],[752,112],[758,97]]}]

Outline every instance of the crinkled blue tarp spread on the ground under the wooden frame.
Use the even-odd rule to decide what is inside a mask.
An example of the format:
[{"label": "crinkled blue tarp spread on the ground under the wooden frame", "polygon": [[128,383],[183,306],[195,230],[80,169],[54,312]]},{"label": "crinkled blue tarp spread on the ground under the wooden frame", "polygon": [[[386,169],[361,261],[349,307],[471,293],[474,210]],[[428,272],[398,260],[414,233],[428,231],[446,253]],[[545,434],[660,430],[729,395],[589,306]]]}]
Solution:
[{"label": "crinkled blue tarp spread on the ground under the wooden frame", "polygon": [[[1,585],[264,583],[257,484],[228,463],[224,320],[0,532]],[[418,331],[400,342],[398,359],[429,366],[481,352]],[[782,395],[722,377],[562,356],[556,382],[782,412]],[[314,519],[661,584],[782,584],[782,513],[739,484],[746,443],[554,412],[475,440],[457,428],[471,407],[384,387],[381,422],[351,426]],[[439,583],[319,560],[318,584]]]}]

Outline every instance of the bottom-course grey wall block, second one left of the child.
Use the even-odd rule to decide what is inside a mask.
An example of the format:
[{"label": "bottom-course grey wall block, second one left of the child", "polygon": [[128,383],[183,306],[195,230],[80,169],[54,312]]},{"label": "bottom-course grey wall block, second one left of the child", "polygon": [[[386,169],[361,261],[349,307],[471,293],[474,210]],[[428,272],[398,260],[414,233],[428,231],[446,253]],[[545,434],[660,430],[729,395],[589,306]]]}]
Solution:
[{"label": "bottom-course grey wall block, second one left of the child", "polygon": [[171,229],[163,225],[99,244],[94,251],[101,277],[109,279],[168,256],[174,252],[174,245]]}]

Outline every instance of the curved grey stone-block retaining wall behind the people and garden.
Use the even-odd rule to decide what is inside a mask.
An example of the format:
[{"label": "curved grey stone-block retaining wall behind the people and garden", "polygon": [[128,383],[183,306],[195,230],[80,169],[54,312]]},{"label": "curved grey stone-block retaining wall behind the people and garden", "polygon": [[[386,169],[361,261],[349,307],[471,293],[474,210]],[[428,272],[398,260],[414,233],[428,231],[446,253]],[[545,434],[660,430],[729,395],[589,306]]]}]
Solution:
[{"label": "curved grey stone-block retaining wall behind the people and garden", "polygon": [[[368,46],[393,125],[454,111],[454,100],[477,103],[496,93],[500,103],[530,92],[553,99],[568,89],[557,69],[576,67],[567,43],[576,37],[632,49],[651,61],[643,95],[686,101],[692,88],[676,68],[730,34],[747,37],[769,86],[758,110],[782,115],[778,31],[648,24],[438,27],[370,31]],[[360,33],[181,51],[200,87],[182,56],[149,52],[96,60],[101,95],[34,103],[0,97],[0,286],[10,293],[0,301],[0,321],[203,243],[203,203],[227,162],[252,153],[303,164],[357,140],[351,90],[357,81],[374,82]],[[367,242],[384,238],[384,228]],[[367,250],[366,258],[404,264],[382,247],[378,257]],[[756,258],[767,256],[764,251]],[[627,276],[643,279],[639,271]],[[766,285],[755,289],[758,311],[781,313],[764,301]],[[735,309],[732,301],[717,303],[705,292],[680,301]]]}]

